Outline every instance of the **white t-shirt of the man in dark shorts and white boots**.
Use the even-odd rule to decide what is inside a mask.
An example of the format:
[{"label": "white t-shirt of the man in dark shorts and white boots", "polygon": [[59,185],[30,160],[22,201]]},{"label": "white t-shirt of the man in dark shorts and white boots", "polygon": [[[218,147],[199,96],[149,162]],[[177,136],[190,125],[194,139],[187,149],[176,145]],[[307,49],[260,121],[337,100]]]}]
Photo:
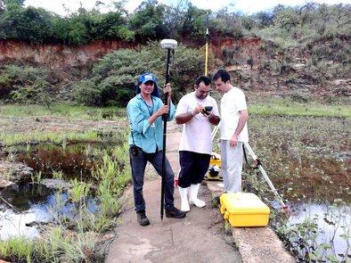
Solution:
[{"label": "white t-shirt of the man in dark shorts and white boots", "polygon": [[[195,96],[195,92],[184,95],[179,101],[175,117],[180,114],[191,112],[197,105],[202,107],[212,106],[212,112],[219,116],[218,106],[214,98],[208,95],[204,100]],[[183,124],[182,137],[179,144],[179,151],[189,151],[211,154],[211,123],[202,113],[195,115],[190,121]]]}]

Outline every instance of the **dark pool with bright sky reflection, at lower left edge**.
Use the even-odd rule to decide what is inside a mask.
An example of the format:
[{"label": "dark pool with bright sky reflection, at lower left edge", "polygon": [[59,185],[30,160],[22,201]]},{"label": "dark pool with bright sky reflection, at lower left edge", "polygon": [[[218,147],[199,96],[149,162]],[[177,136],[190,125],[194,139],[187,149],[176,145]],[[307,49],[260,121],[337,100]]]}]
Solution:
[{"label": "dark pool with bright sky reflection, at lower left edge", "polygon": [[[45,185],[14,185],[0,191],[0,196],[15,209],[9,208],[0,201],[0,240],[10,236],[22,235],[33,238],[39,234],[37,226],[29,226],[33,222],[48,222],[53,220],[53,208],[58,198],[64,206],[60,212],[68,218],[74,218],[77,206],[69,201],[68,193],[59,194],[57,190],[49,189]],[[88,210],[97,211],[94,198],[87,198]]]}]

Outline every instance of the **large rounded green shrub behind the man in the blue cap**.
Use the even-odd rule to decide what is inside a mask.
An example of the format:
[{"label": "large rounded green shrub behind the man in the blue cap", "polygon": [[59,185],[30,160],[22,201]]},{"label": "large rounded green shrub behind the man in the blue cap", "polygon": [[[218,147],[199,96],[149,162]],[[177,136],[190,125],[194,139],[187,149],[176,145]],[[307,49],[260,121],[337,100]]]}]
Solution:
[{"label": "large rounded green shrub behind the man in the blue cap", "polygon": [[[76,101],[86,105],[118,105],[124,107],[135,95],[139,74],[151,71],[159,88],[165,83],[167,52],[159,43],[151,42],[140,50],[121,49],[105,55],[93,67],[92,78],[76,85]],[[175,102],[202,74],[203,59],[199,50],[179,45],[171,65],[172,94]]]}]

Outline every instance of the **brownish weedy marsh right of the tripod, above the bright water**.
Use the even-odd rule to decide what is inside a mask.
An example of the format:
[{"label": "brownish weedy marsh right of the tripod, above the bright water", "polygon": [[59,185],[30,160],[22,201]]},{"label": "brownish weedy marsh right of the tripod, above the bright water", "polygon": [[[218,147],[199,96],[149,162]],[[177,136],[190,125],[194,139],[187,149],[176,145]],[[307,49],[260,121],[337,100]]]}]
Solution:
[{"label": "brownish weedy marsh right of the tripod, above the bright water", "polygon": [[348,118],[256,115],[249,119],[249,144],[290,199],[347,199],[350,123]]}]

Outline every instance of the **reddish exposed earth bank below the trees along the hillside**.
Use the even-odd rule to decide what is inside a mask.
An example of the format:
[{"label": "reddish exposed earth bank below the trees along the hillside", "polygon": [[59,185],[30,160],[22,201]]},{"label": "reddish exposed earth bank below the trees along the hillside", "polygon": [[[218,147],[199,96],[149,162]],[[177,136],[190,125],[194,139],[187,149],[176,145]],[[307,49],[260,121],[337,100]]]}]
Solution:
[{"label": "reddish exposed earth bank below the trees along the hillside", "polygon": [[[258,37],[211,37],[211,48],[216,57],[223,57],[225,48],[244,48],[245,58],[257,53],[262,40]],[[143,45],[146,43],[139,43]],[[184,39],[185,45],[194,45]],[[89,65],[106,53],[121,48],[135,48],[137,45],[119,40],[101,40],[86,45],[27,44],[15,40],[0,39],[0,62],[27,62],[45,65],[51,69],[67,69]],[[199,48],[200,45],[196,45]],[[195,46],[194,46],[195,47]]]}]

